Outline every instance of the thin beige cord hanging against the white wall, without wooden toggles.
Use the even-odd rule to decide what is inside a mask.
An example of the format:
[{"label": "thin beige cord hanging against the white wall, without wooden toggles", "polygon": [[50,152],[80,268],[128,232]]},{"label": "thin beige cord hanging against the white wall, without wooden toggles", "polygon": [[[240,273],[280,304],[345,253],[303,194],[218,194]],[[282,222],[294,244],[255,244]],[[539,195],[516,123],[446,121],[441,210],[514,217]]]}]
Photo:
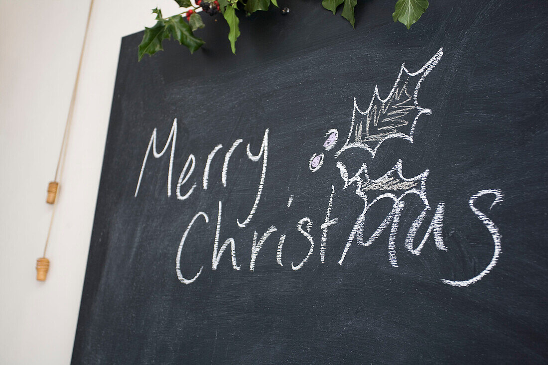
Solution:
[{"label": "thin beige cord hanging against the white wall, without wooden toggles", "polygon": [[[76,102],[76,91],[78,90],[78,81],[80,80],[80,70],[82,69],[82,59],[84,58],[85,41],[87,41],[87,38],[88,38],[89,20],[92,18],[93,2],[94,2],[94,0],[91,0],[91,2],[89,3],[88,20],[85,23],[84,40],[82,41],[82,50],[80,51],[80,60],[78,61],[78,70],[76,71],[76,80],[74,82],[74,88],[72,89],[72,97],[71,97],[71,100],[70,100],[70,106],[68,107],[68,115],[67,115],[67,121],[66,121],[66,124],[65,124],[65,132],[63,133],[63,139],[62,139],[62,142],[61,142],[61,150],[59,151],[59,159],[57,161],[57,168],[55,169],[55,180],[54,181],[60,181],[61,180],[61,176],[63,174],[63,169],[65,167],[65,158],[66,158],[66,154],[67,154],[67,145],[68,145],[68,135],[70,134],[70,127],[71,127],[71,124],[72,124],[72,115],[74,113],[74,105],[75,105],[75,102]],[[55,202],[53,203],[52,219],[49,221],[48,236],[45,238],[44,255],[42,257],[45,257],[45,251],[48,249],[49,235],[52,232],[53,218],[55,216],[55,210],[57,208],[57,202],[58,201],[59,201],[59,198],[56,198]]]}]

